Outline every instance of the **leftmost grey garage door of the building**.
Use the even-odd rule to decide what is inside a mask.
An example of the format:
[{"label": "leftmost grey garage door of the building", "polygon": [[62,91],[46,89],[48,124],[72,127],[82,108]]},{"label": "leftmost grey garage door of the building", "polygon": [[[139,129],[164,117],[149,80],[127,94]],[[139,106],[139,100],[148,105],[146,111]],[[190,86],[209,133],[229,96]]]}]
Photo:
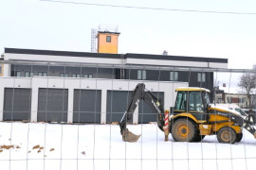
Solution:
[{"label": "leftmost grey garage door of the building", "polygon": [[6,88],[4,97],[4,121],[30,120],[30,89]]}]

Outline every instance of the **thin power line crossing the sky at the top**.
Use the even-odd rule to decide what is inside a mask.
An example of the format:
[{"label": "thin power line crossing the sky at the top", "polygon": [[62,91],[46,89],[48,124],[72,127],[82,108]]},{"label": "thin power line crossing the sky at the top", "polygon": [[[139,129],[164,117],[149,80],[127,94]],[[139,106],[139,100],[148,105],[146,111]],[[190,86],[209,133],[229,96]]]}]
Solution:
[{"label": "thin power line crossing the sky at the top", "polygon": [[178,9],[178,8],[149,8],[149,7],[119,6],[119,5],[111,5],[111,4],[96,4],[96,3],[85,3],[85,2],[74,2],[74,1],[58,1],[58,0],[40,0],[40,1],[51,2],[51,3],[76,4],[76,5],[85,5],[85,6],[111,7],[111,8],[137,8],[137,9],[151,9],[151,10],[181,11],[181,12],[200,12],[200,13],[218,13],[218,14],[256,15],[256,12],[193,10],[193,9]]}]

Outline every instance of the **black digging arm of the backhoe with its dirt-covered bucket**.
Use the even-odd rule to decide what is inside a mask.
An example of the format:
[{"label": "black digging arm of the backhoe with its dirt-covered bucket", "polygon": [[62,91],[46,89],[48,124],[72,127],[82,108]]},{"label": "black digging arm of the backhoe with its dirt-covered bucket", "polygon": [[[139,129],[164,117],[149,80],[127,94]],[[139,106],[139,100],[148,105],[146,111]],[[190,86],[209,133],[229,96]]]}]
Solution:
[{"label": "black digging arm of the backhoe with its dirt-covered bucket", "polygon": [[137,142],[138,138],[140,137],[140,135],[135,135],[130,132],[126,125],[127,122],[132,119],[132,115],[134,114],[134,111],[141,100],[147,103],[150,109],[155,112],[157,126],[163,130],[164,110],[162,101],[157,99],[153,93],[145,92],[145,84],[139,83],[132,94],[132,98],[129,101],[127,110],[124,112],[119,122],[120,133],[124,142]]}]

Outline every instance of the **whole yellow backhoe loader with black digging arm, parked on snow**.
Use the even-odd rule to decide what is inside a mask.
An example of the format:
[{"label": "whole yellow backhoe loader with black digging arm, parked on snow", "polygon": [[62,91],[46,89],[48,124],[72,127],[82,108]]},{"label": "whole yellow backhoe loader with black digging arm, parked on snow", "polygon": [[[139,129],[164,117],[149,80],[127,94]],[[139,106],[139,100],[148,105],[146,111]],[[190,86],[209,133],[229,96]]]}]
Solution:
[{"label": "whole yellow backhoe loader with black digging arm, parked on snow", "polygon": [[[210,91],[204,88],[186,87],[175,91],[175,105],[169,117],[169,130],[174,141],[200,142],[206,135],[216,134],[219,143],[234,144],[242,140],[243,127],[256,138],[255,116],[243,118],[237,111],[215,107],[210,104]],[[145,84],[139,83],[119,122],[124,142],[137,142],[140,137],[126,127],[140,100],[145,101],[155,112],[157,126],[163,130],[165,111],[162,101],[153,93],[146,92]]]}]

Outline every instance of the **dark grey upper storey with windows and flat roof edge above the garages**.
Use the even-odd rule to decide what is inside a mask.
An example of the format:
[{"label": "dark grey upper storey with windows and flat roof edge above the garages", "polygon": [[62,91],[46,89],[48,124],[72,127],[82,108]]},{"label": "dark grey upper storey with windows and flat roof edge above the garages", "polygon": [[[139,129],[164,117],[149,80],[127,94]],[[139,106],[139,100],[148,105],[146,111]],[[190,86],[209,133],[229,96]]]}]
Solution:
[{"label": "dark grey upper storey with windows and flat roof edge above the garages", "polygon": [[163,56],[146,54],[105,54],[84,53],[49,50],[30,50],[6,48],[3,55],[5,60],[24,61],[58,61],[79,62],[92,64],[119,64],[137,65],[139,69],[113,69],[96,67],[64,67],[64,66],[34,66],[34,65],[6,65],[4,76],[65,76],[89,78],[114,78],[114,79],[141,79],[160,81],[189,82],[190,86],[203,87],[212,90],[212,72],[183,72],[146,70],[143,66],[173,66],[194,68],[228,68],[228,59],[194,58],[181,56]]}]

